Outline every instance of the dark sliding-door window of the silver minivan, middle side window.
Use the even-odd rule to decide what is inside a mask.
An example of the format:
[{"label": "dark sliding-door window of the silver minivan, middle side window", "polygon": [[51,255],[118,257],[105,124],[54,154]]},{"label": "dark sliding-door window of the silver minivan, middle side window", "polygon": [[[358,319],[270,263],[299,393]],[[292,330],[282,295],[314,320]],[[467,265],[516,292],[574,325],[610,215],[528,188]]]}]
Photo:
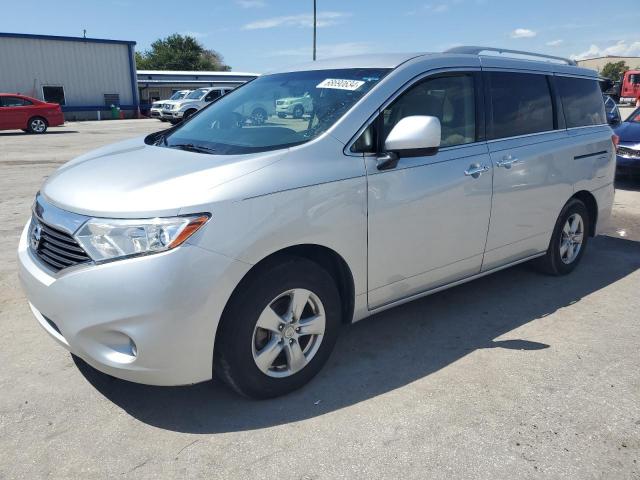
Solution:
[{"label": "dark sliding-door window of the silver minivan, middle side window", "polygon": [[489,139],[554,129],[553,102],[545,75],[490,72],[487,79],[492,107]]}]

